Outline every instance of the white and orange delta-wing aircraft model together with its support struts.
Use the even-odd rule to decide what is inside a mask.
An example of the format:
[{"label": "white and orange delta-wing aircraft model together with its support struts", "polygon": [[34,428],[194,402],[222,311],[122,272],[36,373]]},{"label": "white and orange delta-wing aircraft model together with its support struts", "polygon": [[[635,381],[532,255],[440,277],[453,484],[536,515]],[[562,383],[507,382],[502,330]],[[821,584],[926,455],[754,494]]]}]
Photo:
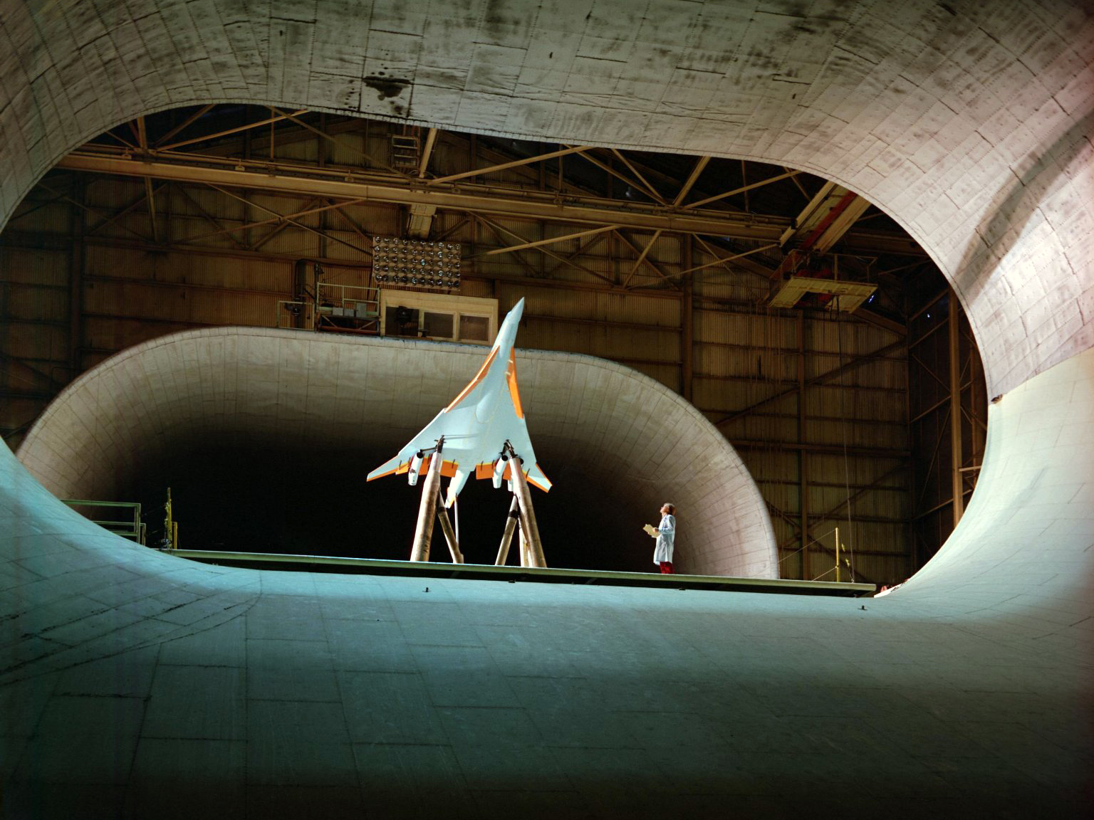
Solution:
[{"label": "white and orange delta-wing aircraft model together with its support struts", "polygon": [[[492,479],[494,488],[500,488],[502,481],[509,482],[514,492],[510,520],[515,523],[520,519],[522,543],[527,539],[532,553],[531,565],[545,565],[540,563],[543,550],[526,484],[547,492],[551,482],[536,462],[516,386],[513,342],[523,313],[522,298],[505,316],[498,330],[498,338],[475,378],[398,455],[374,469],[366,478],[372,481],[393,473],[405,473],[408,482],[414,485],[418,483],[420,476],[427,477],[411,560],[428,560],[429,536],[424,536],[422,548],[422,530],[432,529],[433,504],[441,476],[451,479],[444,501],[444,506],[451,507],[474,471],[478,479]],[[514,464],[521,467],[513,470]],[[449,524],[447,514],[441,511],[439,517],[442,518],[442,527],[449,537],[451,525],[444,526]],[[507,536],[502,539],[498,563],[504,562],[511,537],[512,526],[509,526]],[[458,548],[453,546],[451,537],[449,541],[453,559],[461,561],[462,557],[457,558]],[[534,554],[537,552],[538,559]],[[523,549],[521,558],[523,564]]]}]

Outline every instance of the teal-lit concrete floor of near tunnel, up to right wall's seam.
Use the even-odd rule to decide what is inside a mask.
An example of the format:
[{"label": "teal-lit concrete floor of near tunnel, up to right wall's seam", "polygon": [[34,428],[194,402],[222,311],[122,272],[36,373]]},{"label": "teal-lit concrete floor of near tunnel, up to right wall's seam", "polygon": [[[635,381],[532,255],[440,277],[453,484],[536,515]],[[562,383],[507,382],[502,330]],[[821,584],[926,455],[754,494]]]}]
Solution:
[{"label": "teal-lit concrete floor of near tunnel, up to right wall's seam", "polygon": [[207,566],[3,453],[3,811],[1083,817],[1092,365],[992,408],[997,469],[881,599]]}]

